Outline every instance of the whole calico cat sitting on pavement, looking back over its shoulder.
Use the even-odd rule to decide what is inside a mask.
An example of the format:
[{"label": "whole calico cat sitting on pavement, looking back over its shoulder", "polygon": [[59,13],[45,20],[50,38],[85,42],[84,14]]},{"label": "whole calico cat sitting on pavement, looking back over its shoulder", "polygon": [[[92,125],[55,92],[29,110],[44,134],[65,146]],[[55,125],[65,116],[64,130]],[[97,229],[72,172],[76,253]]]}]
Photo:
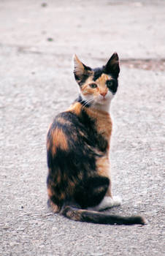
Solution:
[{"label": "whole calico cat sitting on pavement, looking back over its shoulder", "polygon": [[74,56],[79,97],[58,114],[47,132],[47,194],[54,213],[80,222],[145,225],[144,217],[103,212],[120,206],[110,178],[110,102],[118,90],[118,54],[92,69]]}]

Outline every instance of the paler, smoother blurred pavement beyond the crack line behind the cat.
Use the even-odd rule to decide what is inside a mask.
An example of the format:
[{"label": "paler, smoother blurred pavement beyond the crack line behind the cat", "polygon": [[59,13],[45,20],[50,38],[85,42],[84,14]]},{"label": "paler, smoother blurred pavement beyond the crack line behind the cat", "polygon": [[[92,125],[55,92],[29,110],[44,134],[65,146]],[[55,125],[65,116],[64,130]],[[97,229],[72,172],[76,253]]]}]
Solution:
[{"label": "paler, smoother blurred pavement beyond the crack line behind the cat", "polygon": [[[1,0],[1,44],[83,58],[162,58],[164,1]],[[22,48],[21,48],[22,47]]]}]

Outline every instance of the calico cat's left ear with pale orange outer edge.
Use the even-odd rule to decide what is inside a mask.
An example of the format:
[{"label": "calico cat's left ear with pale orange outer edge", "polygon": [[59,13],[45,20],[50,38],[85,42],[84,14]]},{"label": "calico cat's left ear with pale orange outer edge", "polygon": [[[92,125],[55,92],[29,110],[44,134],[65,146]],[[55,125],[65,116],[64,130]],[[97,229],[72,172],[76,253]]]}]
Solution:
[{"label": "calico cat's left ear with pale orange outer edge", "polygon": [[74,78],[77,81],[77,83],[81,86],[82,83],[85,82],[85,80],[92,74],[91,67],[85,66],[80,59],[74,55]]}]

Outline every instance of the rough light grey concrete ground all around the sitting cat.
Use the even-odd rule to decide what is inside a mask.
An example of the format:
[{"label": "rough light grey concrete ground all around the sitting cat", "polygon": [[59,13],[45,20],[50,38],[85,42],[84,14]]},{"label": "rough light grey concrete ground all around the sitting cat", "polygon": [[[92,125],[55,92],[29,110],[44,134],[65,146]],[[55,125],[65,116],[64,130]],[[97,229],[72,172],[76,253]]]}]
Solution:
[{"label": "rough light grey concrete ground all around the sitting cat", "polygon": [[[164,255],[165,1],[0,1],[0,255]],[[47,209],[47,127],[77,97],[72,55],[120,56],[112,190],[145,226],[73,222]]]}]

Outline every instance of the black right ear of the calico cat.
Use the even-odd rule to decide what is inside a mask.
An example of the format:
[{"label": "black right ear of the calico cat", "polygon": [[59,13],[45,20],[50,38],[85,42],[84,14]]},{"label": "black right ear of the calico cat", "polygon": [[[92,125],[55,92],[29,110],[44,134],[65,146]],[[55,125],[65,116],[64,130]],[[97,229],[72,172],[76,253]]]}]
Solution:
[{"label": "black right ear of the calico cat", "polygon": [[118,78],[120,72],[118,53],[113,53],[105,66],[105,72]]}]

